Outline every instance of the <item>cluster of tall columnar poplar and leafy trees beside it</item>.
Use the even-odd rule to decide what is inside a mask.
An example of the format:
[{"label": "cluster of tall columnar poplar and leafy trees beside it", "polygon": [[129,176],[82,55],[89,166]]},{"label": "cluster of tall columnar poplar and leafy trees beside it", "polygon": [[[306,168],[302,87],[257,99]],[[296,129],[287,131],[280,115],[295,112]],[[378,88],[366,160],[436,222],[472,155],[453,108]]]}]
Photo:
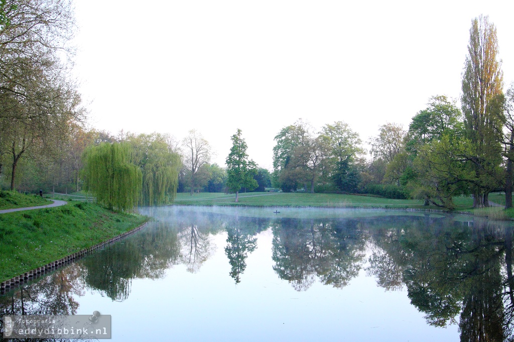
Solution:
[{"label": "cluster of tall columnar poplar and leafy trees beside it", "polygon": [[488,194],[506,193],[512,206],[512,106],[505,96],[494,25],[472,21],[462,79],[462,111],[446,97],[431,98],[413,118],[402,145],[389,161],[386,180],[407,194],[453,208],[453,198],[473,196],[473,207],[488,206]]}]

